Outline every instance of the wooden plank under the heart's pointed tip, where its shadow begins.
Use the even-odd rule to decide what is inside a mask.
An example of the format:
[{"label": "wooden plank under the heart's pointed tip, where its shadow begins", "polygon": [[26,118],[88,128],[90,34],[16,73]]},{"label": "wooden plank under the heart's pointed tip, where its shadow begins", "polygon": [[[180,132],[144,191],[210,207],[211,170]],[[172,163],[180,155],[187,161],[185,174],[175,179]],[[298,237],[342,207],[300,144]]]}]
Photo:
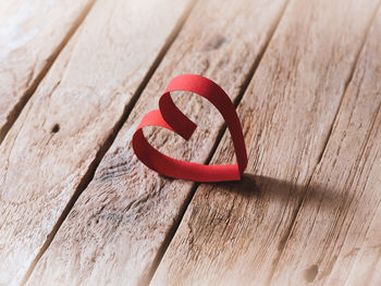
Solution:
[{"label": "wooden plank under the heart's pointed tip, where its shadow begins", "polygon": [[[291,1],[238,107],[247,173],[197,188],[151,285],[269,282],[376,5]],[[212,163],[234,160],[228,134],[216,153]]]}]

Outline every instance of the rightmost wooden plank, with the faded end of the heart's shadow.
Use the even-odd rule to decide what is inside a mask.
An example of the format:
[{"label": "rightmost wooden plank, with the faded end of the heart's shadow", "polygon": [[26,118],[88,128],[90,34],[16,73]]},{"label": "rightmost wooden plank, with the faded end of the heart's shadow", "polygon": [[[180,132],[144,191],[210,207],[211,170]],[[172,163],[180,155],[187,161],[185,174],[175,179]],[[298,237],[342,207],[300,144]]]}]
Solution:
[{"label": "rightmost wooden plank, with the faded end of the heart's shadow", "polygon": [[381,10],[272,284],[381,285]]}]

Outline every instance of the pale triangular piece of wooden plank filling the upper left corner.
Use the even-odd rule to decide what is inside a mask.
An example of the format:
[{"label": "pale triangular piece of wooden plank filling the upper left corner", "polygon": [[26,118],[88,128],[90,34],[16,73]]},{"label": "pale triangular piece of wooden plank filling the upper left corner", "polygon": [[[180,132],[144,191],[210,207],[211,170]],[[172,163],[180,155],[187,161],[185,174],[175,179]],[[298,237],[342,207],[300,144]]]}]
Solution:
[{"label": "pale triangular piece of wooden plank filling the upper left corner", "polygon": [[0,142],[93,2],[0,2]]}]

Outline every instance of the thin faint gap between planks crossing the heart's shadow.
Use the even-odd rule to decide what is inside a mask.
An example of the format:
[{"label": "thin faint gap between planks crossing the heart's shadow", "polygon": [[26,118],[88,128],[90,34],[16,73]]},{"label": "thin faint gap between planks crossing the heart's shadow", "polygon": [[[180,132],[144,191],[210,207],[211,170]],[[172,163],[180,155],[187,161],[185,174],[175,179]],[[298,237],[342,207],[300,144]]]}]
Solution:
[{"label": "thin faint gap between planks crossing the heart's shadow", "polygon": [[279,261],[280,261],[280,259],[281,259],[281,257],[282,257],[282,254],[283,254],[283,252],[284,252],[286,243],[287,243],[287,240],[288,240],[288,238],[290,238],[290,236],[291,236],[291,234],[292,234],[292,231],[293,231],[293,228],[294,228],[294,226],[295,226],[295,222],[296,222],[297,214],[298,214],[298,212],[299,212],[299,210],[300,210],[300,208],[302,208],[302,206],[303,206],[303,203],[304,203],[304,201],[305,201],[305,199],[306,199],[307,190],[308,190],[309,187],[310,187],[310,183],[311,183],[311,181],[312,181],[314,174],[316,173],[317,167],[318,167],[318,165],[320,164],[321,159],[323,158],[323,154],[324,154],[324,152],[325,152],[325,150],[327,150],[327,146],[328,146],[328,142],[329,142],[330,138],[331,138],[333,127],[334,127],[334,125],[336,124],[336,121],[337,121],[339,111],[340,111],[341,108],[342,108],[342,103],[343,103],[344,96],[345,96],[345,94],[346,94],[346,90],[347,90],[347,88],[348,88],[348,86],[349,86],[352,79],[354,78],[355,71],[356,71],[356,67],[358,66],[361,52],[362,52],[362,50],[364,50],[365,43],[366,43],[367,38],[368,38],[368,36],[369,36],[369,33],[370,33],[370,28],[371,28],[371,26],[372,26],[372,23],[373,23],[374,20],[376,20],[376,16],[377,16],[377,13],[378,13],[380,7],[381,7],[381,1],[378,2],[378,5],[377,5],[377,8],[374,9],[373,14],[372,14],[372,16],[370,17],[370,20],[369,20],[369,22],[368,22],[367,29],[366,29],[367,32],[365,33],[365,35],[364,35],[364,37],[362,37],[362,39],[361,39],[361,45],[360,45],[360,47],[359,47],[359,49],[358,49],[358,51],[357,51],[357,53],[356,53],[356,60],[355,60],[354,64],[353,64],[352,67],[351,67],[351,72],[349,72],[348,78],[345,80],[343,94],[341,95],[340,103],[339,103],[339,105],[337,105],[335,115],[334,115],[334,117],[333,117],[333,121],[332,121],[330,130],[329,130],[329,133],[328,133],[328,135],[327,135],[324,145],[323,145],[323,147],[322,147],[322,149],[321,149],[321,153],[320,153],[319,159],[318,159],[318,161],[317,161],[317,163],[316,163],[316,165],[315,165],[315,167],[314,167],[314,170],[312,170],[312,172],[311,172],[310,177],[308,178],[308,182],[307,182],[306,186],[304,187],[304,190],[303,190],[303,194],[302,194],[302,198],[300,198],[300,200],[299,200],[299,202],[298,202],[298,204],[297,204],[297,207],[296,207],[295,212],[293,213],[292,220],[291,220],[291,222],[290,222],[290,226],[287,227],[287,231],[286,231],[286,233],[285,233],[283,239],[281,239],[281,241],[280,241],[280,247],[279,247],[279,248],[280,248],[280,251],[279,251],[278,257],[276,257],[275,260],[274,260],[274,263],[273,263],[273,265],[272,265],[272,269],[271,269],[271,272],[270,272],[270,274],[269,274],[269,276],[268,276],[268,279],[267,279],[266,285],[270,285],[270,283],[271,283],[271,279],[272,279],[272,277],[273,277],[273,275],[274,275],[274,273],[275,273],[276,268],[278,268]]}]

